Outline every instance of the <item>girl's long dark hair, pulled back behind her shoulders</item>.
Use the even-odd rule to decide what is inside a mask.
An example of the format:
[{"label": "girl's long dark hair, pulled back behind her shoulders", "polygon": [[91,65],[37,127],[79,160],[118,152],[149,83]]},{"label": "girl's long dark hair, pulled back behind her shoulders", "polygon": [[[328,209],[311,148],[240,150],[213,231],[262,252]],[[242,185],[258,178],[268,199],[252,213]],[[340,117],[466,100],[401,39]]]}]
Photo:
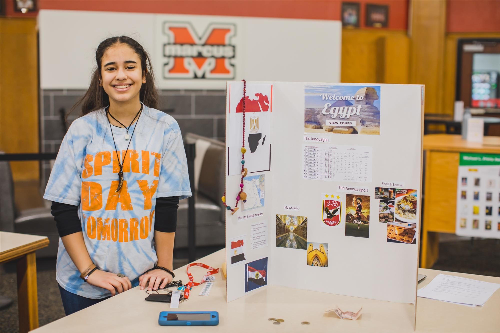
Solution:
[{"label": "girl's long dark hair, pulled back behind her shoulders", "polygon": [[126,44],[130,46],[130,48],[139,56],[142,73],[145,74],[146,77],[146,83],[142,83],[142,86],[140,87],[139,100],[149,107],[158,108],[158,92],[154,86],[154,74],[151,67],[151,59],[149,58],[149,55],[144,50],[142,45],[140,45],[135,39],[128,36],[115,36],[104,39],[103,41],[101,41],[99,46],[97,46],[97,49],[95,50],[95,62],[97,63],[97,66],[92,72],[90,86],[88,87],[83,97],[81,97],[73,105],[73,107],[71,107],[66,116],[80,104],[80,115],[85,115],[91,111],[109,105],[109,96],[104,91],[104,88],[99,86],[99,79],[101,78],[101,60],[104,52],[109,47],[116,44]]}]

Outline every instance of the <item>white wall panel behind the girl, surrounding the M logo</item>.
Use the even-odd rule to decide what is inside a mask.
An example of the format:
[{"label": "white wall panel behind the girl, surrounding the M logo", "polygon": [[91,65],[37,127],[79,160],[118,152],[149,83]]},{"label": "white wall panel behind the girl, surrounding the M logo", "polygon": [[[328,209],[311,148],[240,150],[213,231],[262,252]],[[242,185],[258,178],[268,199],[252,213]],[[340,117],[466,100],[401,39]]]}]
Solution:
[{"label": "white wall panel behind the girl, surrounding the M logo", "polygon": [[[184,22],[203,41],[213,26],[234,26],[234,77],[168,78],[165,23]],[[224,89],[226,80],[339,81],[341,23],[331,20],[40,10],[40,87],[85,89],[95,49],[114,35],[137,39],[151,55],[160,89]],[[187,61],[192,61],[188,59]]]}]

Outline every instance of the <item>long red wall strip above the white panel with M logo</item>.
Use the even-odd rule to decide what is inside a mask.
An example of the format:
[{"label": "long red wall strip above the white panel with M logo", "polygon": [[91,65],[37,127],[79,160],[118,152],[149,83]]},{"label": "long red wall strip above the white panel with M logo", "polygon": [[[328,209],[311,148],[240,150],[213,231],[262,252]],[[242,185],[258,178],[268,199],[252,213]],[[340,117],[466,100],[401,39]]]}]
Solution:
[{"label": "long red wall strip above the white panel with M logo", "polygon": [[[389,5],[389,29],[406,30],[408,0],[348,0]],[[340,20],[341,0],[38,0],[40,9],[151,12]]]}]

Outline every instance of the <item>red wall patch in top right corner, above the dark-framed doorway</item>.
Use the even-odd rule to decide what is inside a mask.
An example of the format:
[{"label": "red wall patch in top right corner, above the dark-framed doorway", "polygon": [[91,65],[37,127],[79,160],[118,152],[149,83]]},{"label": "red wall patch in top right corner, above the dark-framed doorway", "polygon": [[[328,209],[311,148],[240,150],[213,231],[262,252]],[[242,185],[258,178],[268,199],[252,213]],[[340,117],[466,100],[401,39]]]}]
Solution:
[{"label": "red wall patch in top right corner, above the dark-framed doorway", "polygon": [[500,0],[448,0],[446,31],[500,31]]}]

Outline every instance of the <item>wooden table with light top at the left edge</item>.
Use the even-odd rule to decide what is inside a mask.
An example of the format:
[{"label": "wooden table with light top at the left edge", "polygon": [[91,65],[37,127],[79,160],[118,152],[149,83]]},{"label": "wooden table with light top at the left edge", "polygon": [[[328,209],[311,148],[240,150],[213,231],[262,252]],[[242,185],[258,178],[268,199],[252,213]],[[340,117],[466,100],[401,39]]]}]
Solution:
[{"label": "wooden table with light top at the left edge", "polygon": [[20,333],[38,327],[34,251],[45,246],[48,246],[47,237],[0,231],[0,263],[17,259],[17,307]]}]

